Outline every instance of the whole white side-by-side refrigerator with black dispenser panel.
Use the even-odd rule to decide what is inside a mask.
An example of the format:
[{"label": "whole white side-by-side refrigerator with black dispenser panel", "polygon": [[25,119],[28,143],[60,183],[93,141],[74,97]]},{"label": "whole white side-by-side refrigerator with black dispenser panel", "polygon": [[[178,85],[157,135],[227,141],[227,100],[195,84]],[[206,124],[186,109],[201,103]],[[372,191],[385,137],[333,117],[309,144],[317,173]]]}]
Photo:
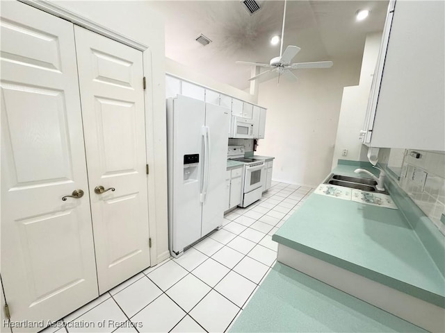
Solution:
[{"label": "whole white side-by-side refrigerator with black dispenser panel", "polygon": [[170,253],[179,257],[223,223],[230,110],[178,95],[167,100]]}]

